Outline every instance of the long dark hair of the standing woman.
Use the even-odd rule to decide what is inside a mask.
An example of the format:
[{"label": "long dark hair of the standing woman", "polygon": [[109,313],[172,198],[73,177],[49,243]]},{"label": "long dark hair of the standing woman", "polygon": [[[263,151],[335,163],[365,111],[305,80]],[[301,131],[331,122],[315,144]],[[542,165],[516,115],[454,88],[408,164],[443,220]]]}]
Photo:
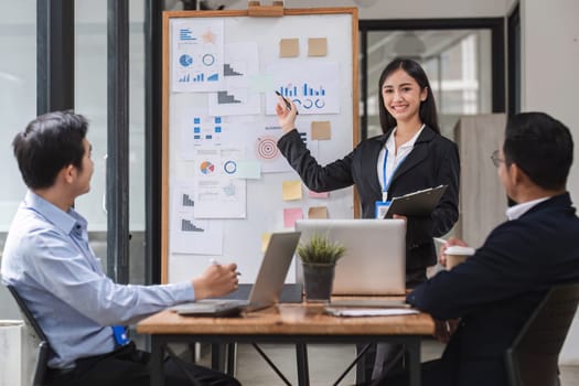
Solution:
[{"label": "long dark hair of the standing woman", "polygon": [[422,124],[435,130],[437,133],[440,133],[440,128],[438,127],[437,119],[437,105],[435,103],[435,95],[432,94],[432,88],[428,82],[428,76],[426,76],[422,67],[410,58],[397,57],[382,72],[380,79],[378,82],[378,96],[379,96],[379,117],[380,117],[380,127],[382,132],[387,132],[394,127],[396,127],[396,119],[388,112],[386,107],[384,107],[384,96],[382,95],[382,86],[388,76],[394,73],[396,69],[401,68],[408,75],[410,75],[416,83],[420,86],[420,90],[427,90],[426,100],[420,104],[419,115]]}]

